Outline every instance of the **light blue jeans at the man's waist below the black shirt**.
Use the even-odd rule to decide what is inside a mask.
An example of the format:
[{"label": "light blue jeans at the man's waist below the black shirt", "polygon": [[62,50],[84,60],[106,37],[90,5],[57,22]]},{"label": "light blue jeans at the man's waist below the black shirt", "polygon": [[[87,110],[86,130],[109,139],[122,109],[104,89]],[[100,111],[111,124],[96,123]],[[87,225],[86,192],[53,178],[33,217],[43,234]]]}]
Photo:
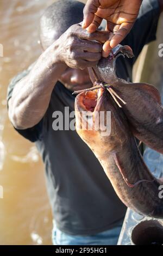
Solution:
[{"label": "light blue jeans at the man's waist below the black shirt", "polygon": [[116,227],[95,235],[68,235],[54,224],[52,231],[53,245],[116,245],[123,221]]}]

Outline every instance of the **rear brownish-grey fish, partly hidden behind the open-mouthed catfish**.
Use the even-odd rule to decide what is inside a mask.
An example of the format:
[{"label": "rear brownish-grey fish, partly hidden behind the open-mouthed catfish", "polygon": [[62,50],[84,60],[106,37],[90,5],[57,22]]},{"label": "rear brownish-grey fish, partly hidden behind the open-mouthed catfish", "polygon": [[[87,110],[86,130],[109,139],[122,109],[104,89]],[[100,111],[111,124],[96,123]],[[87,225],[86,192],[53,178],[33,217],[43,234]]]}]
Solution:
[{"label": "rear brownish-grey fish, partly hidden behind the open-mouthed catfish", "polygon": [[[100,81],[108,83],[126,102],[123,112],[134,136],[148,147],[163,154],[163,109],[158,89],[147,83],[130,83],[116,76],[115,64],[120,55],[133,57],[129,46],[118,45],[114,57],[102,58],[94,68]],[[92,82],[95,82],[90,70]]]}]

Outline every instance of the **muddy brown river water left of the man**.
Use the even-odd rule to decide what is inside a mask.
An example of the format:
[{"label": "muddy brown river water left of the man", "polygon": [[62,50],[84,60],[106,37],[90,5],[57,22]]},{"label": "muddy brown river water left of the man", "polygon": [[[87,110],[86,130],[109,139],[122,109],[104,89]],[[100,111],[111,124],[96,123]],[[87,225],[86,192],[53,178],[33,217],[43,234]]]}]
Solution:
[{"label": "muddy brown river water left of the man", "polygon": [[12,128],[5,99],[11,77],[26,69],[41,53],[39,18],[52,2],[0,0],[1,245],[51,244],[52,216],[43,164],[34,144]]}]

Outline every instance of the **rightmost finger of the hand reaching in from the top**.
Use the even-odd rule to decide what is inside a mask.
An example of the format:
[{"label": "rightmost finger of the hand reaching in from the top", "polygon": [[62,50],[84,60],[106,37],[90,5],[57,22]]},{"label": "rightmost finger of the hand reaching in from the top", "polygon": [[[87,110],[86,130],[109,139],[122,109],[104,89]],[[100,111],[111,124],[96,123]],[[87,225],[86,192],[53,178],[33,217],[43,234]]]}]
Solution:
[{"label": "rightmost finger of the hand reaching in from the top", "polygon": [[116,34],[110,40],[110,47],[114,48],[116,45],[120,44],[120,42],[130,32],[132,27],[133,23],[123,22],[120,28],[117,30]]}]

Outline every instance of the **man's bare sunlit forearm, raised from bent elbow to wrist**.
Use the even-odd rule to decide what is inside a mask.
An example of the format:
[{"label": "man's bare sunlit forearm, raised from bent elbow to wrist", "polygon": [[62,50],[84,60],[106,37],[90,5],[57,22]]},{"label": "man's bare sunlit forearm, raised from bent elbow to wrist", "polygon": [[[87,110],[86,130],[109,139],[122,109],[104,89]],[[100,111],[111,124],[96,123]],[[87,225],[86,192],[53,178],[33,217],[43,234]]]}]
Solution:
[{"label": "man's bare sunlit forearm, raised from bent elbow to wrist", "polygon": [[[52,46],[53,47],[53,46]],[[41,54],[30,73],[14,87],[9,100],[9,118],[17,129],[39,123],[51,99],[55,83],[67,68],[49,47]]]}]

